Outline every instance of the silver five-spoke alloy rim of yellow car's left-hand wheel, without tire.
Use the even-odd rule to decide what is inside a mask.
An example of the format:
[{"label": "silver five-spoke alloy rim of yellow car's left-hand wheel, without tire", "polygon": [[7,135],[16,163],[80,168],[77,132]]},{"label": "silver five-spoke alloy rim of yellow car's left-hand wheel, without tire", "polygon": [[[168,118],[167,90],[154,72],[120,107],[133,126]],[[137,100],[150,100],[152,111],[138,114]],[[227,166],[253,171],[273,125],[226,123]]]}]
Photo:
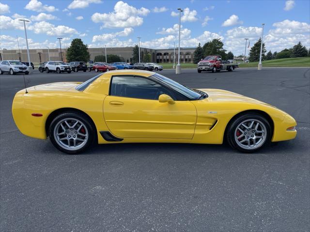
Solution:
[{"label": "silver five-spoke alloy rim of yellow car's left-hand wheel, without tire", "polygon": [[64,118],[54,128],[54,139],[62,148],[70,151],[83,147],[88,140],[88,130],[76,118]]}]

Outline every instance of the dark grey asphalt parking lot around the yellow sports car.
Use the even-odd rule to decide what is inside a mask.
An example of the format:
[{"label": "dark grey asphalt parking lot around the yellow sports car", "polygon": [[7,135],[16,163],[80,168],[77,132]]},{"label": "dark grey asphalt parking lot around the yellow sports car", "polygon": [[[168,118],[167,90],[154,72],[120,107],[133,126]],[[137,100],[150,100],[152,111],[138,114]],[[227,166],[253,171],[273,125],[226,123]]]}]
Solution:
[{"label": "dark grey asphalt parking lot around the yellow sports car", "polygon": [[[309,231],[310,69],[159,72],[294,116],[295,140],[255,154],[228,145],[98,145],[65,155],[22,135],[11,114],[22,75],[0,75],[0,231]],[[29,86],[91,73],[38,73]]]}]

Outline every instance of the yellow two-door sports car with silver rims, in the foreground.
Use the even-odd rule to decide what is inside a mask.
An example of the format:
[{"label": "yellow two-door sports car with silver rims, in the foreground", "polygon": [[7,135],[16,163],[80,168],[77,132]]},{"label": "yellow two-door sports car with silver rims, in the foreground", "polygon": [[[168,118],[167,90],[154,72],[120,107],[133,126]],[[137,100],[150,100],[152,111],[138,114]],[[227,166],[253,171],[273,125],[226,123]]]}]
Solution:
[{"label": "yellow two-door sports car with silver rims, in the foreground", "polygon": [[120,70],[20,90],[12,113],[25,135],[74,154],[109,143],[222,144],[253,152],[294,139],[296,121],[264,102],[191,89],[158,73]]}]

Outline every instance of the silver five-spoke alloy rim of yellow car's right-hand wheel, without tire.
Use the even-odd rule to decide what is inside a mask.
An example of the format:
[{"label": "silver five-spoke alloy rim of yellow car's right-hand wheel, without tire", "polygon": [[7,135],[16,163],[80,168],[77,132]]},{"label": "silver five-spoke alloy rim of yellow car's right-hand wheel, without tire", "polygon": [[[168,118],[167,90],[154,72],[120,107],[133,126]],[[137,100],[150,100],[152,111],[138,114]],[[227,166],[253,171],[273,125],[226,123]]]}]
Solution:
[{"label": "silver five-spoke alloy rim of yellow car's right-hand wheel, without tire", "polygon": [[244,120],[234,131],[234,140],[237,145],[248,150],[262,146],[266,137],[266,126],[258,119]]}]

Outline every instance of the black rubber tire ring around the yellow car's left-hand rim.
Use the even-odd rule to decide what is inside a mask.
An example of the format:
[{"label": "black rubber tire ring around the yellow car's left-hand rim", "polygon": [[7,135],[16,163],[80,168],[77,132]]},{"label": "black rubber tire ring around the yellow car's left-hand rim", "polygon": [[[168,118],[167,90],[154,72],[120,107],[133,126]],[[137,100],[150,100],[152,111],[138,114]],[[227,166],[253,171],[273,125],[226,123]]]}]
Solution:
[{"label": "black rubber tire ring around the yellow car's left-hand rim", "polygon": [[[73,118],[73,119],[77,119],[77,120],[81,121],[87,129],[86,131],[88,131],[87,142],[83,146],[78,148],[77,150],[68,150],[68,149],[62,147],[61,145],[59,145],[57,143],[56,138],[54,136],[54,130],[55,130],[57,123],[59,121],[61,121],[62,119],[65,119],[65,118]],[[78,153],[86,150],[90,145],[93,145],[95,138],[96,138],[96,129],[95,129],[93,123],[90,122],[86,116],[79,114],[79,113],[65,112],[65,113],[62,113],[62,114],[56,116],[54,118],[54,120],[51,122],[49,129],[48,129],[48,135],[49,135],[50,141],[58,150],[60,150],[64,153],[67,153],[67,154],[78,154]]]}]

